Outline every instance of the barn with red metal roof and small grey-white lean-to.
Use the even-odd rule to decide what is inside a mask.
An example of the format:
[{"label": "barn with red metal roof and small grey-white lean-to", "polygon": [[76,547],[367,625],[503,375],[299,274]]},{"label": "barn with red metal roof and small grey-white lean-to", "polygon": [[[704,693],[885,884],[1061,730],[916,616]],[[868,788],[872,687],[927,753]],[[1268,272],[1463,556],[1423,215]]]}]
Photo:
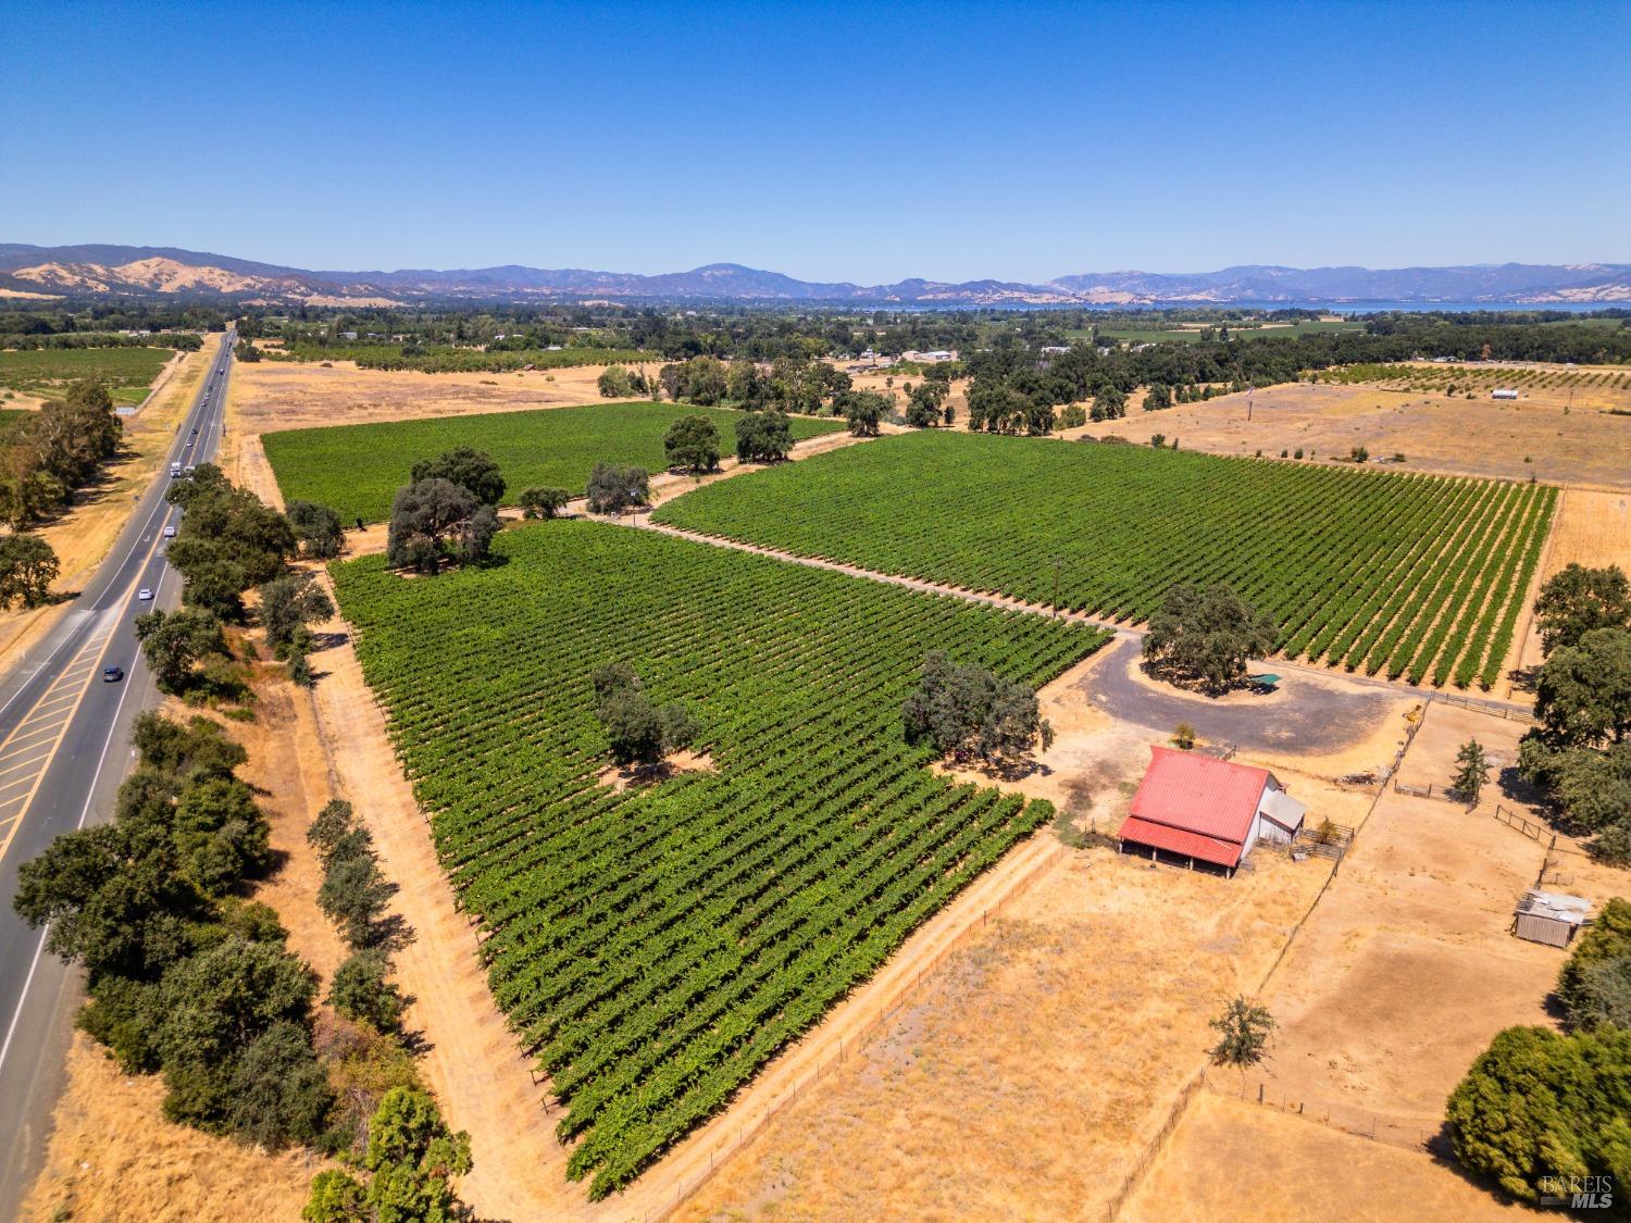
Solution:
[{"label": "barn with red metal roof and small grey-white lean-to", "polygon": [[1266,768],[1171,747],[1150,752],[1117,833],[1122,853],[1166,854],[1235,874],[1259,840],[1285,845],[1303,827],[1306,807]]}]

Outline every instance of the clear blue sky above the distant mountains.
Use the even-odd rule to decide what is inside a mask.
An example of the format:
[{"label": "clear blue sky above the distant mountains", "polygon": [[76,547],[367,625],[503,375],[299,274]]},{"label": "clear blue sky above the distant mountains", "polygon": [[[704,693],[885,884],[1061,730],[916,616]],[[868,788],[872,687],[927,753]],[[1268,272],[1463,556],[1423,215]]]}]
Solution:
[{"label": "clear blue sky above the distant mountains", "polygon": [[1631,261],[1623,0],[0,23],[0,241],[868,284]]}]

